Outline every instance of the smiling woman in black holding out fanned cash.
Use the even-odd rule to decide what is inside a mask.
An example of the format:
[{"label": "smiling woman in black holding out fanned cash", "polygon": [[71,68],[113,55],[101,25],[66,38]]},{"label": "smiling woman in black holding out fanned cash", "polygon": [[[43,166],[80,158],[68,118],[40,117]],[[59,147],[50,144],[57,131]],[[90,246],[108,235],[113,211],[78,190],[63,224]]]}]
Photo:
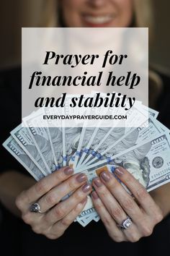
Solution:
[{"label": "smiling woman in black holding out fanned cash", "polygon": [[[144,4],[148,3],[148,1],[132,0],[58,1],[58,8],[60,9],[58,20],[61,25],[66,27],[130,27],[145,25],[145,23],[141,23],[141,15],[138,15],[139,9],[142,12],[138,4],[143,6],[142,2]],[[14,109],[10,108],[10,111],[12,111],[10,116],[14,120],[6,120],[4,116],[8,130],[4,129],[3,140],[6,138],[6,132],[13,129],[13,125],[19,121],[15,119],[16,117],[19,119],[20,114],[19,85],[21,81],[17,80],[19,74],[16,71],[12,74],[13,79],[14,74],[16,75],[15,80],[10,80],[8,73],[1,75],[2,80],[4,80],[2,82],[4,93],[7,92],[6,86],[8,86],[9,101],[15,106]],[[167,77],[162,77],[162,81],[165,83],[164,88],[166,88],[168,80]],[[14,81],[15,90],[12,87]],[[156,86],[158,91],[161,85],[156,73],[152,73],[151,81],[153,87]],[[17,94],[13,95],[13,93]],[[156,98],[153,97],[152,105],[154,103],[160,111],[169,109],[167,108],[169,101],[166,101],[168,93],[167,90],[166,93],[163,91],[157,102]],[[159,101],[162,103],[161,107],[158,106]],[[7,114],[8,108],[9,106],[6,106]],[[161,112],[161,121],[168,125],[166,116],[168,116],[167,111],[166,113],[165,111]],[[125,255],[127,250],[130,255],[147,255],[147,252],[150,255],[157,255],[162,251],[166,255],[166,247],[169,247],[168,218],[164,221],[162,219],[166,218],[170,212],[169,184],[154,190],[149,195],[146,189],[128,171],[123,168],[117,168],[116,174],[133,192],[135,197],[135,200],[133,200],[133,197],[130,197],[125,192],[125,189],[121,187],[114,176],[103,171],[99,178],[94,179],[95,192],[91,194],[102,221],[90,223],[86,229],[83,229],[73,221],[81,213],[86,204],[87,195],[91,193],[92,188],[86,182],[85,175],[76,174],[71,176],[73,170],[66,167],[35,183],[29,176],[14,171],[20,167],[17,166],[17,163],[12,158],[9,158],[4,152],[4,163],[2,163],[4,174],[0,176],[0,198],[7,209],[17,216],[22,216],[24,221],[18,221],[18,229],[21,231],[22,236],[17,236],[17,239],[20,239],[17,241],[19,243],[17,255],[19,253],[20,255],[41,256],[50,255],[50,253],[56,253],[56,255],[114,255],[117,253]],[[72,190],[74,191],[73,195],[60,202],[61,198]],[[30,212],[30,205],[33,202],[39,203],[42,213]],[[11,218],[9,219],[11,220]],[[129,226],[128,229],[122,230],[120,226],[125,220],[128,221],[127,225]],[[159,222],[161,224],[153,232],[154,227]],[[29,226],[24,223],[29,224]],[[4,236],[6,233],[4,231]],[[153,235],[151,236],[152,233]],[[41,236],[41,234],[44,236]],[[15,233],[15,235],[17,234]],[[143,236],[149,237],[138,242]],[[129,243],[122,245],[117,242]],[[164,243],[164,247],[160,249],[161,243]]]}]

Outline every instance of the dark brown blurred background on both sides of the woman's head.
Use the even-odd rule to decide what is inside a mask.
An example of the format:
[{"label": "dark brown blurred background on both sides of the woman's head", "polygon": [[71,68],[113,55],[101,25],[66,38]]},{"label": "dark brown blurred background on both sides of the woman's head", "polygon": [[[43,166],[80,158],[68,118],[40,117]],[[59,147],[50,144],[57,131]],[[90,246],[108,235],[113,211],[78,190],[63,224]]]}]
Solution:
[{"label": "dark brown blurred background on both sides of the woman's head", "polygon": [[[0,69],[14,67],[21,64],[21,28],[55,26],[53,18],[46,19],[47,13],[51,17],[55,8],[46,5],[55,0],[6,0],[0,3]],[[142,0],[141,0],[142,1]],[[154,0],[155,30],[154,40],[150,48],[150,62],[166,72],[170,71],[170,33],[169,0]]]}]

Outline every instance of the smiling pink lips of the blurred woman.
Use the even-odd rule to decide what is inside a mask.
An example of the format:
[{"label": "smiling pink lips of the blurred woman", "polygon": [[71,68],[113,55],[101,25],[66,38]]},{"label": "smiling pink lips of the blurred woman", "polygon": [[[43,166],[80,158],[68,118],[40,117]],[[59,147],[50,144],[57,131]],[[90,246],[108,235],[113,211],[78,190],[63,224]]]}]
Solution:
[{"label": "smiling pink lips of the blurred woman", "polygon": [[109,27],[115,17],[114,14],[83,14],[82,20],[86,27]]}]

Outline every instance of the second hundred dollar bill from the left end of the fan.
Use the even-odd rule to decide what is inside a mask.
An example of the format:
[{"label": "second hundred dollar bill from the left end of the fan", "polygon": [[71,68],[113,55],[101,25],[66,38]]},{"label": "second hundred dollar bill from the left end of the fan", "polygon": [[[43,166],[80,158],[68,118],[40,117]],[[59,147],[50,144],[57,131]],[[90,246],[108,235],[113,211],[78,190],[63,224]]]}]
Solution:
[{"label": "second hundred dollar bill from the left end of the fan", "polygon": [[31,160],[37,165],[42,174],[48,174],[48,170],[45,167],[45,163],[42,161],[40,157],[40,153],[37,151],[35,144],[30,137],[29,132],[26,127],[22,127],[22,124],[19,124],[18,127],[13,129],[11,132],[14,140],[19,144],[19,146],[24,150],[25,153],[31,158]]}]

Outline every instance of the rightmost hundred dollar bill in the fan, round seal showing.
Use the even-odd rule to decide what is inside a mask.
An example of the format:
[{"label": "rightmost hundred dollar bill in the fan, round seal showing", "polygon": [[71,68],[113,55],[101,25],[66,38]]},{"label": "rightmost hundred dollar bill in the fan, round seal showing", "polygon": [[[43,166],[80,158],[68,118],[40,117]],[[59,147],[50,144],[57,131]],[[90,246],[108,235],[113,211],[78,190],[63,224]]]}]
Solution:
[{"label": "rightmost hundred dollar bill in the fan, round seal showing", "polygon": [[[170,181],[170,136],[161,133],[152,139],[128,148],[110,158],[109,165],[122,166],[130,171],[135,179],[148,191],[160,187]],[[97,168],[107,164],[107,160],[89,166],[89,176],[94,175]],[[81,170],[83,171],[83,170]]]}]

